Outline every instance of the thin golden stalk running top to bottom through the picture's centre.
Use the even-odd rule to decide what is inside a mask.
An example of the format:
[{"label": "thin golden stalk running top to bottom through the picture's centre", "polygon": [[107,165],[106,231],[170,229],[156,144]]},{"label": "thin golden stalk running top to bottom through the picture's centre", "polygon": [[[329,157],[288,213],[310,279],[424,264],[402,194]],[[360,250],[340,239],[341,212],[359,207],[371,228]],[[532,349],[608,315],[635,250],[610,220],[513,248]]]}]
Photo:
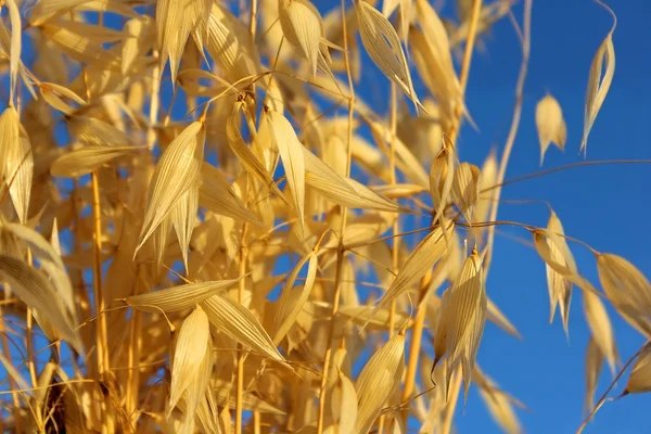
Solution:
[{"label": "thin golden stalk running top to bottom through the picture's centre", "polygon": [[[342,16],[346,16],[346,8],[344,4],[344,0],[341,0],[341,10]],[[346,20],[344,18],[342,22],[343,34],[344,34],[344,63],[346,65],[346,75],[348,77],[348,89],[349,89],[349,99],[348,99],[348,136],[346,139],[346,176],[350,176],[350,165],[353,161],[353,149],[350,143],[353,142],[353,115],[355,111],[355,87],[353,86],[353,75],[350,73],[350,60],[348,58],[348,34],[346,28]],[[328,341],[326,345],[326,355],[323,356],[323,374],[321,376],[321,385],[319,388],[319,411],[317,417],[317,434],[323,433],[323,419],[326,414],[326,386],[328,385],[329,374],[330,374],[330,359],[332,357],[332,345],[334,339],[334,326],[335,326],[335,317],[339,311],[341,292],[342,292],[342,275],[343,275],[343,264],[344,264],[344,233],[346,230],[346,217],[348,214],[348,209],[345,206],[340,207],[341,216],[342,216],[342,225],[340,229],[339,237],[339,248],[336,252],[336,268],[335,268],[335,279],[334,279],[334,294],[332,298],[332,309],[330,311],[330,329],[328,330]]]}]

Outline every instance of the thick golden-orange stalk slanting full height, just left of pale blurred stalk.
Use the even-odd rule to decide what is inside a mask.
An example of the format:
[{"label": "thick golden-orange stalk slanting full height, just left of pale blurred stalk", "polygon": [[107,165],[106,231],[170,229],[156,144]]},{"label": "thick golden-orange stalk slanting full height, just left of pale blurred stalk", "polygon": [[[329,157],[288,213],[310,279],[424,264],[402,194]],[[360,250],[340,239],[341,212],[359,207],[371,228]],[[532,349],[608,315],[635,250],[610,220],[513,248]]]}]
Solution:
[{"label": "thick golden-orange stalk slanting full height, just left of pale blurred stalk", "polygon": [[[474,51],[474,43],[476,40],[477,33],[477,23],[480,21],[480,12],[482,10],[482,0],[475,0],[472,8],[472,15],[470,17],[470,30],[468,35],[468,41],[465,42],[465,52],[463,53],[463,64],[461,65],[461,74],[459,78],[459,84],[461,86],[462,94],[465,93],[465,87],[468,86],[468,77],[470,76],[470,64],[472,61],[472,53]],[[461,118],[461,106],[457,104],[455,107],[455,123],[452,124],[452,128],[449,133],[450,142],[456,143],[458,133],[460,118]],[[420,297],[425,295],[427,291],[427,286],[432,280],[432,270],[430,269],[427,273],[421,280],[420,288]],[[416,385],[416,374],[418,370],[418,355],[421,348],[422,342],[422,332],[424,328],[425,321],[425,309],[420,306],[417,310],[416,319],[413,321],[413,326],[411,329],[411,344],[409,346],[409,361],[407,365],[407,372],[405,374],[405,387],[403,388],[401,401],[405,403],[411,398],[411,394],[413,393],[413,388]],[[409,409],[405,408],[401,412],[403,422],[407,425],[407,420],[409,419]]]}]

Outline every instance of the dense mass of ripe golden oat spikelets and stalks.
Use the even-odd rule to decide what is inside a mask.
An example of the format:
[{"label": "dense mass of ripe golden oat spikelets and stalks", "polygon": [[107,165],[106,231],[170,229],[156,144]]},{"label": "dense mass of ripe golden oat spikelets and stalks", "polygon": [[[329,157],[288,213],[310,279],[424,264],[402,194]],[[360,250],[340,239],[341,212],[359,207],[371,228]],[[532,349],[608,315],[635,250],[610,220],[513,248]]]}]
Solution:
[{"label": "dense mass of ripe golden oat spikelets and stalks", "polygon": [[[461,381],[521,431],[475,362],[486,320],[518,335],[485,285],[508,157],[456,146],[473,47],[512,2],[459,1],[457,24],[426,0],[343,3],[0,3],[0,431],[448,433]],[[526,0],[524,64],[529,21]],[[355,95],[362,52],[388,117]],[[564,146],[553,97],[536,122],[541,157]],[[553,212],[522,227],[566,330],[583,290],[591,407],[618,361],[604,303],[651,336],[649,281],[592,251],[602,292]],[[649,391],[651,348],[634,360],[625,392]]]}]

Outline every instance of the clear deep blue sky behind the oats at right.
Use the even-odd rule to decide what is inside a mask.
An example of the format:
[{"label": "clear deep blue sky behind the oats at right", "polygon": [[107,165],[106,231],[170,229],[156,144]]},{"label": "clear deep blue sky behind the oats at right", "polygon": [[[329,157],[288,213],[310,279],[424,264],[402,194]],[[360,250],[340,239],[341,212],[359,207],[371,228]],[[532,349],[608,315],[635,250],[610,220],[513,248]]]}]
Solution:
[{"label": "clear deep blue sky behind the oats at right", "polygon": [[[336,2],[339,5],[339,1]],[[451,3],[451,2],[448,2]],[[522,1],[520,2],[522,3]],[[614,34],[615,77],[588,142],[587,159],[651,158],[651,4],[648,0],[610,1],[617,15]],[[318,1],[322,10],[329,1]],[[443,13],[449,13],[446,5]],[[522,4],[514,8],[519,21]],[[522,124],[507,170],[507,179],[539,170],[539,144],[534,122],[536,102],[546,91],[560,102],[569,136],[564,153],[547,152],[542,168],[583,161],[578,149],[583,132],[585,90],[590,62],[611,26],[607,11],[590,0],[534,1],[532,54],[524,88]],[[484,39],[485,53],[475,53],[467,101],[480,132],[467,127],[460,138],[463,159],[481,163],[495,145],[501,150],[511,120],[514,85],[521,50],[508,20],[502,20]],[[372,85],[365,85],[372,84]],[[374,107],[388,103],[387,80],[367,65],[358,94]],[[425,91],[419,86],[420,93]],[[651,276],[651,235],[640,218],[651,209],[651,166],[593,166],[574,168],[544,178],[506,187],[503,199],[546,200],[563,221],[565,232],[601,252],[631,260]],[[501,205],[499,219],[545,227],[549,213],[542,204]],[[643,221],[643,220],[642,220]],[[509,233],[527,237],[524,231]],[[531,238],[528,238],[531,239]],[[572,245],[577,265],[592,282],[598,282],[589,252]],[[523,400],[528,411],[519,416],[529,434],[574,433],[583,421],[585,393],[584,358],[589,337],[584,321],[583,301],[575,290],[567,342],[560,318],[549,324],[549,299],[545,266],[537,254],[505,237],[497,238],[495,260],[487,282],[489,296],[512,320],[524,341],[506,335],[487,324],[478,362],[506,391]],[[643,343],[609,308],[622,358],[626,360]],[[608,387],[605,369],[597,396]],[[616,392],[624,386],[624,381]],[[648,409],[651,395],[627,396],[607,403],[588,434],[651,433]],[[459,408],[455,420],[460,434],[499,433],[475,390],[471,390],[464,414]]]}]

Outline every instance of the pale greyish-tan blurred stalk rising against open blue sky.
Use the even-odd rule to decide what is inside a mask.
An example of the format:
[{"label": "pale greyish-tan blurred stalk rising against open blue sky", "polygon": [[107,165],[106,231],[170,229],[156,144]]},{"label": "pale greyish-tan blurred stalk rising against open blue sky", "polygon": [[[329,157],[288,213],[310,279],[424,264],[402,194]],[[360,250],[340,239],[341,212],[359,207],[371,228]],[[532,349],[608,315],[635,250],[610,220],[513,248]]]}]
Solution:
[{"label": "pale greyish-tan blurred stalk rising against open blue sky", "polygon": [[[497,173],[496,184],[500,186],[507,174],[507,166],[509,158],[511,157],[511,151],[513,150],[513,143],[515,142],[515,136],[518,136],[518,129],[520,127],[520,118],[522,116],[522,94],[524,92],[524,81],[526,79],[526,73],[528,68],[528,59],[531,51],[531,24],[532,24],[532,2],[533,0],[525,0],[524,2],[524,25],[522,33],[522,63],[520,65],[520,74],[518,76],[518,84],[515,85],[515,106],[513,108],[513,118],[511,120],[511,128],[509,129],[509,136],[505,145],[505,153],[502,154],[499,163],[499,170]],[[501,194],[501,186],[495,189],[493,193],[493,206],[490,207],[489,221],[497,219],[497,209],[499,207],[499,197]],[[493,246],[495,242],[495,227],[488,228],[488,237],[486,245],[488,251],[484,260],[484,276],[488,275],[490,261],[493,260]]]}]

